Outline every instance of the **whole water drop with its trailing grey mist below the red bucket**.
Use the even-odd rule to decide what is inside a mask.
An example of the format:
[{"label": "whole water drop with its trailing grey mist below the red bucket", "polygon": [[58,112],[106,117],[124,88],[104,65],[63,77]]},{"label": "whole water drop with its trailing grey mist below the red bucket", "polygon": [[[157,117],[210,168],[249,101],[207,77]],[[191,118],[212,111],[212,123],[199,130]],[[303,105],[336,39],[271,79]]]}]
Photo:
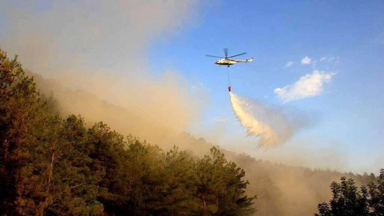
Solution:
[{"label": "whole water drop with its trailing grey mist below the red bucket", "polygon": [[293,124],[283,113],[229,93],[233,112],[249,136],[260,137],[259,148],[284,143],[292,135]]}]

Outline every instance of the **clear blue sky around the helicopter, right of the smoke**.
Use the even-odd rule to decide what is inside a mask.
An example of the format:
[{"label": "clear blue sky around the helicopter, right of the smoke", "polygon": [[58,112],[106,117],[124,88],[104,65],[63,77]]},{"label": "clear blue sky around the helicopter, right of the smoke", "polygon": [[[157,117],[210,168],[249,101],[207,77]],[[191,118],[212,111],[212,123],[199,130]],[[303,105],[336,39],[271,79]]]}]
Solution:
[{"label": "clear blue sky around the helicopter, right of the smoke", "polygon": [[[309,147],[303,147],[336,149],[346,160],[345,169],[369,167],[375,171],[384,164],[377,159],[384,151],[383,11],[382,1],[212,3],[199,8],[195,21],[169,40],[154,43],[148,51],[152,71],[172,68],[180,71],[189,85],[207,89],[211,100],[202,127],[212,129],[218,118],[232,121],[235,117],[229,106],[226,68],[214,65],[215,59],[204,55],[220,56],[224,47],[230,54],[248,52],[244,58],[253,56],[254,62],[230,68],[235,93],[294,107],[316,118],[285,145],[310,140],[303,144]],[[302,65],[305,56],[316,64]],[[320,62],[323,57],[327,60]],[[285,67],[288,61],[294,64]],[[321,95],[286,103],[276,96],[275,88],[293,84],[315,69],[334,73],[331,81],[324,83]],[[231,126],[226,133],[239,130],[239,126]],[[324,143],[329,140],[338,146]],[[295,150],[300,151],[300,146]],[[273,151],[279,150],[268,150],[269,154]]]}]

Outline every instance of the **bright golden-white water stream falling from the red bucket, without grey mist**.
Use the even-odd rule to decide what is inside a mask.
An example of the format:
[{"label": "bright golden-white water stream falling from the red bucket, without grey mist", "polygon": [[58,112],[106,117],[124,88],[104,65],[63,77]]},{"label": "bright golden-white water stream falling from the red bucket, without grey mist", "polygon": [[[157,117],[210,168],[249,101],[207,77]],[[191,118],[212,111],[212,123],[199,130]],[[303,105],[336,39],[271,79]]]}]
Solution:
[{"label": "bright golden-white water stream falling from the red bucket, without grey mist", "polygon": [[273,130],[271,125],[262,123],[253,115],[253,105],[232,92],[229,92],[229,96],[233,112],[240,121],[240,125],[247,129],[249,136],[260,136],[260,148],[269,148],[282,143],[282,140],[278,137],[278,134],[276,134],[276,131]]}]

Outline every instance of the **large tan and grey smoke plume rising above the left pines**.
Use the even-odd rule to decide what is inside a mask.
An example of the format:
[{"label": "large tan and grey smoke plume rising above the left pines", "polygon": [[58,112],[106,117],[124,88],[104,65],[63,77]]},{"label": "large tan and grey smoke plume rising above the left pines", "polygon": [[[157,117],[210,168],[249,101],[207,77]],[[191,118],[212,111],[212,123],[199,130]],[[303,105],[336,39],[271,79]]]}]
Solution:
[{"label": "large tan and grey smoke plume rising above the left pines", "polygon": [[[199,119],[199,100],[172,69],[153,72],[152,43],[192,18],[196,0],[0,1],[0,47],[19,55],[62,115],[104,121],[161,144]],[[41,75],[37,77],[37,75]]]}]

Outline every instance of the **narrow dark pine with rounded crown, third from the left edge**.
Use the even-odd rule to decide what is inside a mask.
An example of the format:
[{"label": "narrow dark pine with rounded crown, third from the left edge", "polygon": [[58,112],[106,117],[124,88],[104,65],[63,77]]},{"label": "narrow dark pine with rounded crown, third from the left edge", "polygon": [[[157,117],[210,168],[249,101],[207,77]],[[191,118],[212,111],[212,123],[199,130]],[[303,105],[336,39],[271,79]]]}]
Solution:
[{"label": "narrow dark pine with rounded crown, third from the left edge", "polygon": [[88,130],[91,169],[103,174],[98,183],[98,201],[105,213],[119,213],[128,198],[127,152],[124,137],[103,122]]}]

